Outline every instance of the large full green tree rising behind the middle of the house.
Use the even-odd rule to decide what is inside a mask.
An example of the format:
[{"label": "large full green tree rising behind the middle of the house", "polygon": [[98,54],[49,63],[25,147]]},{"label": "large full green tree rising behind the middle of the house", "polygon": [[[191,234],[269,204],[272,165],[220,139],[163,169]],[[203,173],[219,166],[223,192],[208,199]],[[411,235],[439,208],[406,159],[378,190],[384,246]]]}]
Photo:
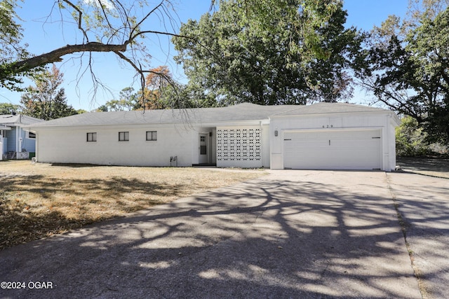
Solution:
[{"label": "large full green tree rising behind the middle of the house", "polygon": [[360,42],[345,21],[340,1],[220,1],[182,25],[175,60],[201,102],[335,102],[351,95],[348,67]]}]

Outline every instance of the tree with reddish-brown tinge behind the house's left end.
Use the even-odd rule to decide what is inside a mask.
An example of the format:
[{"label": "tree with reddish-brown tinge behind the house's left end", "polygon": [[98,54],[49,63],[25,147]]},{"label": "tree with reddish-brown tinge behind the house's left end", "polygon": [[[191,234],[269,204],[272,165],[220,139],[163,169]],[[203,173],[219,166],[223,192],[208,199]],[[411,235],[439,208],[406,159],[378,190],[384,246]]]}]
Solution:
[{"label": "tree with reddish-brown tinge behind the house's left end", "polygon": [[59,88],[62,76],[59,69],[53,65],[51,71],[46,71],[36,78],[36,86],[30,86],[20,99],[22,113],[43,120],[77,114],[76,110],[67,104],[64,88]]}]

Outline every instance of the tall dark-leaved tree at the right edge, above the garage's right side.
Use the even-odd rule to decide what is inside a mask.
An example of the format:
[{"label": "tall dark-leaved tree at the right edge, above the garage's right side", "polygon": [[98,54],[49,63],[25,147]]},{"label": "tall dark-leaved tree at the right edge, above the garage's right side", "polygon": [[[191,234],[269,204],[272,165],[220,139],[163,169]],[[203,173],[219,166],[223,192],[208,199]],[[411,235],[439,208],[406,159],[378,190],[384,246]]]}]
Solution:
[{"label": "tall dark-leaved tree at the right edge, above the garage's right side", "polygon": [[426,1],[411,20],[390,17],[375,28],[368,66],[356,75],[377,101],[415,118],[429,141],[449,144],[449,8],[442,4]]}]

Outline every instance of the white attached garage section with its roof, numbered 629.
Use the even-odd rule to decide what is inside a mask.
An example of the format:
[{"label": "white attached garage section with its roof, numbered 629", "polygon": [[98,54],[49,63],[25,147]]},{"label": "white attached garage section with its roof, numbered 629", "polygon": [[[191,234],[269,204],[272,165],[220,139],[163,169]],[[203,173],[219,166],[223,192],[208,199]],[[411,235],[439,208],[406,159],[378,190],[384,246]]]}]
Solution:
[{"label": "white attached garage section with its roof, numbered 629", "polygon": [[396,166],[393,111],[319,103],[270,117],[272,169],[380,169]]}]

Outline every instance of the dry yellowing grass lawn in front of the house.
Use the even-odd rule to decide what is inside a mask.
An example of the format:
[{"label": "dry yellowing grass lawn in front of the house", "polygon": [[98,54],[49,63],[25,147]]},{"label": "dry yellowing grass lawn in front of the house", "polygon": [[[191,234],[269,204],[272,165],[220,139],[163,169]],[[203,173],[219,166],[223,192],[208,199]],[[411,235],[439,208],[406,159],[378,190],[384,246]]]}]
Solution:
[{"label": "dry yellowing grass lawn in front of the house", "polygon": [[0,161],[0,249],[264,174]]}]

